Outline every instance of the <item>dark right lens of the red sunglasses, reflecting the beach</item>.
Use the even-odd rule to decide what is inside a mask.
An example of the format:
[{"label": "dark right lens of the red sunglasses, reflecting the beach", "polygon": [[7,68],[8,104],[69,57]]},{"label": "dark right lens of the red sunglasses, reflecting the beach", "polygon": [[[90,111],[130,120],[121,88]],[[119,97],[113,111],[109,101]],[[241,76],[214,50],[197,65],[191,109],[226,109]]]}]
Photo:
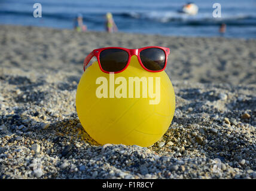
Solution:
[{"label": "dark right lens of the red sunglasses, reflecting the beach", "polygon": [[142,64],[149,70],[157,71],[164,68],[165,53],[160,48],[147,48],[139,54]]}]

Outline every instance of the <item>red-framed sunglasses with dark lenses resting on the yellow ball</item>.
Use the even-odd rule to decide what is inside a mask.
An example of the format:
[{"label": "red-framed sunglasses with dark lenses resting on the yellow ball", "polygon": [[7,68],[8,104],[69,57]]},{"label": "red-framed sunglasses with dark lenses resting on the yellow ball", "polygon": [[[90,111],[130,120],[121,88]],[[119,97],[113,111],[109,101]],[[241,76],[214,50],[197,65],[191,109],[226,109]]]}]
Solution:
[{"label": "red-framed sunglasses with dark lenses resting on the yellow ball", "polygon": [[92,57],[96,56],[100,70],[105,73],[119,73],[125,70],[133,55],[138,57],[141,66],[148,72],[161,72],[165,69],[169,48],[144,47],[127,49],[121,47],[107,47],[95,49],[84,59],[84,71]]}]

